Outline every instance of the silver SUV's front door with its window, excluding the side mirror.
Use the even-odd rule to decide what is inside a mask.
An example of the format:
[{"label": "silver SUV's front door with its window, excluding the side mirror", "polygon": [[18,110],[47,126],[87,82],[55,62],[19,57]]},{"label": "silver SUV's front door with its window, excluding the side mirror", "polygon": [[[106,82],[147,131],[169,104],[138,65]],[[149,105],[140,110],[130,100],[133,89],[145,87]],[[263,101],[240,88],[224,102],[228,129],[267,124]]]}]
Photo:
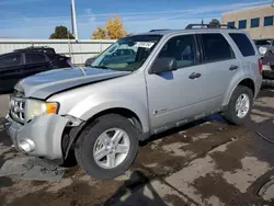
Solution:
[{"label": "silver SUV's front door with its window, excluding the side mirror", "polygon": [[203,66],[195,35],[171,37],[157,58],[174,58],[176,70],[146,75],[150,124],[155,133],[183,124],[186,118],[199,115],[204,85]]}]

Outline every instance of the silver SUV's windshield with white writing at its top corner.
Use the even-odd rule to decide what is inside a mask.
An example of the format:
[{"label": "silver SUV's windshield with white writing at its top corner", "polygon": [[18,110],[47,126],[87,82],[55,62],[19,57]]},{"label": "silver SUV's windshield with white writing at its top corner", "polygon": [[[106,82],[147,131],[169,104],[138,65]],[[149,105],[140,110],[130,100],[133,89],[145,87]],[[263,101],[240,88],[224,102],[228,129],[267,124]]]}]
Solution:
[{"label": "silver SUV's windshield with white writing at its top corner", "polygon": [[136,35],[121,38],[103,52],[91,66],[135,71],[146,61],[161,37],[161,35]]}]

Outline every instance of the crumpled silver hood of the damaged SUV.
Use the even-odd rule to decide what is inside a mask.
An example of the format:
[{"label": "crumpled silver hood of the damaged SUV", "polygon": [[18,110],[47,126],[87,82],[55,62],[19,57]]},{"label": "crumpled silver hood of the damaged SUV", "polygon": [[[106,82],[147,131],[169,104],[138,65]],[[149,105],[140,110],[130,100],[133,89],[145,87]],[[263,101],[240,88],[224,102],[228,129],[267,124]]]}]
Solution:
[{"label": "crumpled silver hood of the damaged SUV", "polygon": [[24,92],[26,98],[46,99],[64,90],[122,77],[128,73],[130,73],[130,71],[114,71],[91,67],[82,68],[82,70],[79,68],[55,69],[27,77],[21,80],[14,89]]}]

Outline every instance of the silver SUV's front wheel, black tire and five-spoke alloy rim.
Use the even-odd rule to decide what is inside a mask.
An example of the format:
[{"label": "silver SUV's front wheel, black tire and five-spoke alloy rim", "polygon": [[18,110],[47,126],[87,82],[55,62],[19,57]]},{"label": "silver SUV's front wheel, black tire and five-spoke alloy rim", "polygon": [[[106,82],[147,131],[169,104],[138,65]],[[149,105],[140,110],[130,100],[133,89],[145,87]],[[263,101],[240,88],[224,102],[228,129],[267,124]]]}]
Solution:
[{"label": "silver SUV's front wheel, black tire and five-spoke alloy rim", "polygon": [[121,115],[109,114],[83,130],[75,152],[88,174],[112,179],[129,168],[137,150],[138,133],[133,123]]}]

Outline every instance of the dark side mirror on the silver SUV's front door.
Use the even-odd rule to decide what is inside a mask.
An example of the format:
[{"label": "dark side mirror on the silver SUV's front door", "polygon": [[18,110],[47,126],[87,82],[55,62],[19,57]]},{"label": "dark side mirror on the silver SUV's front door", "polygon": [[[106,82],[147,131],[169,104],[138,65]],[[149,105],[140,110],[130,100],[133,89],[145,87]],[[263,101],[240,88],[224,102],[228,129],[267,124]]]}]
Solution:
[{"label": "dark side mirror on the silver SUV's front door", "polygon": [[176,61],[174,58],[157,58],[150,68],[149,73],[161,73],[176,70]]}]

